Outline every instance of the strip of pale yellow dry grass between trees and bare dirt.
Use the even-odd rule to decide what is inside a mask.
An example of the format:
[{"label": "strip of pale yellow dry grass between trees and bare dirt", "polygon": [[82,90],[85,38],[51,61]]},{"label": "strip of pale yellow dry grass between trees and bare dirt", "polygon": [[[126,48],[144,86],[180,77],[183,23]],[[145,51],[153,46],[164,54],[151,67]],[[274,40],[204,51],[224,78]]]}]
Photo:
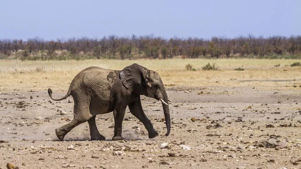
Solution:
[{"label": "strip of pale yellow dry grass between trees and bare dirt", "polygon": [[[293,80],[299,83],[301,68],[289,67],[300,60],[264,60],[264,59],[166,59],[166,60],[85,60],[85,61],[0,61],[1,91],[66,91],[73,77],[89,66],[121,70],[132,63],[140,64],[157,71],[166,87],[174,86],[282,86],[291,82],[273,80]],[[202,71],[202,66],[215,63],[219,71]],[[187,71],[185,65],[191,64],[197,71]],[[280,64],[279,67],[274,67]],[[244,71],[234,71],[241,67]],[[242,82],[244,80],[255,80]],[[259,81],[258,81],[259,80]],[[284,84],[285,83],[285,84]]]}]

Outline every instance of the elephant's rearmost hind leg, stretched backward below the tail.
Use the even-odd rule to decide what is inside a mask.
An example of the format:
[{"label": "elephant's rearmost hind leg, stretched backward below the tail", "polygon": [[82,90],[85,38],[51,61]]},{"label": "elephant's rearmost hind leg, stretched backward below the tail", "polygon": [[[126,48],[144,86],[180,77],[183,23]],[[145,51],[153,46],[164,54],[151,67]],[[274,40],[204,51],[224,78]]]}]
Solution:
[{"label": "elephant's rearmost hind leg, stretched backward below the tail", "polygon": [[89,111],[90,100],[80,100],[74,98],[74,118],[73,120],[55,130],[57,137],[62,141],[65,135],[79,124],[88,121],[92,115]]}]

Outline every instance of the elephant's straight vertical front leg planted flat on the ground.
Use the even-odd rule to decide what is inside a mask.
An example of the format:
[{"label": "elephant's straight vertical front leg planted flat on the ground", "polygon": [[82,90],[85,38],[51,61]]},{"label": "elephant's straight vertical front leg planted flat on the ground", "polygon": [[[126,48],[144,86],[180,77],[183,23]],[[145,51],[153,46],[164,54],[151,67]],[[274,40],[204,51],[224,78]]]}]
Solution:
[{"label": "elephant's straight vertical front leg planted flat on the ground", "polygon": [[[118,106],[118,105],[117,105]],[[118,106],[117,108],[114,108],[113,115],[114,115],[114,136],[112,140],[123,140],[124,138],[121,136],[122,133],[122,121],[125,113],[125,107]]]}]

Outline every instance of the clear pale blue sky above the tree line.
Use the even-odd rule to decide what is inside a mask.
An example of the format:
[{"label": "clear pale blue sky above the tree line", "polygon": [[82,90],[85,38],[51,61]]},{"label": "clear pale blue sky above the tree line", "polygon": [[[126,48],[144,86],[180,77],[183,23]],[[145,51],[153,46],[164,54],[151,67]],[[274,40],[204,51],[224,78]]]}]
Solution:
[{"label": "clear pale blue sky above the tree line", "polygon": [[0,39],[301,35],[301,1],[1,1]]}]

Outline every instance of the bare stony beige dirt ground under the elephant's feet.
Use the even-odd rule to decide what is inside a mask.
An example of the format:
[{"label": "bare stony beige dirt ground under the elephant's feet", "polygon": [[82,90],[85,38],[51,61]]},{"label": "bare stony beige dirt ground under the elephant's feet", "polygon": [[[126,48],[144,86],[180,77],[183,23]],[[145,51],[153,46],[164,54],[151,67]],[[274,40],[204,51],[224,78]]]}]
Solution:
[{"label": "bare stony beige dirt ground under the elephant's feet", "polygon": [[[0,91],[0,168],[7,163],[16,168],[300,168],[300,84],[296,79],[170,86],[171,134],[164,136],[161,103],[142,97],[160,135],[148,139],[127,110],[122,141],[111,141],[112,113],[96,116],[105,141],[90,141],[87,123],[59,141],[55,129],[73,117],[71,96],[53,101],[46,90]],[[65,95],[52,90],[56,98]]]}]

